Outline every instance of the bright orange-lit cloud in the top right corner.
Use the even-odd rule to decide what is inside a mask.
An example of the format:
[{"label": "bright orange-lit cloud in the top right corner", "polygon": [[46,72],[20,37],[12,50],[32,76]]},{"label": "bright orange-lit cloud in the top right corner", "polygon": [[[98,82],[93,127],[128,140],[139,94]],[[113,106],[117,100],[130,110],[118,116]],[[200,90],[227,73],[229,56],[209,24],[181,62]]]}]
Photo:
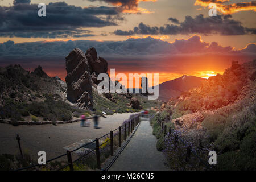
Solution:
[{"label": "bright orange-lit cloud in the top right corner", "polygon": [[251,2],[239,2],[227,4],[229,0],[196,0],[195,5],[208,7],[209,3],[216,3],[217,10],[223,14],[232,14],[239,11],[256,11],[256,1]]}]

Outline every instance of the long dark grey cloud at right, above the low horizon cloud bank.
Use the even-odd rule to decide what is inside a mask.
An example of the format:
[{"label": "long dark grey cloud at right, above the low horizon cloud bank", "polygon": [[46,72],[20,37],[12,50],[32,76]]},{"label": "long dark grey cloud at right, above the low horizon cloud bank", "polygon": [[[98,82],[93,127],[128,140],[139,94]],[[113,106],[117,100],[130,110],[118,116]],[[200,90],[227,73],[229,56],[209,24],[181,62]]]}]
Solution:
[{"label": "long dark grey cloud at right, above the low horizon cloud bank", "polygon": [[254,28],[243,27],[241,22],[230,19],[231,15],[217,15],[216,17],[206,17],[202,14],[195,16],[185,16],[184,22],[178,23],[177,19],[170,18],[174,24],[164,24],[161,27],[151,27],[144,23],[139,23],[138,27],[133,30],[114,31],[115,35],[135,35],[135,34],[150,34],[150,35],[177,35],[177,34],[203,34],[203,35],[245,35],[255,34]]}]

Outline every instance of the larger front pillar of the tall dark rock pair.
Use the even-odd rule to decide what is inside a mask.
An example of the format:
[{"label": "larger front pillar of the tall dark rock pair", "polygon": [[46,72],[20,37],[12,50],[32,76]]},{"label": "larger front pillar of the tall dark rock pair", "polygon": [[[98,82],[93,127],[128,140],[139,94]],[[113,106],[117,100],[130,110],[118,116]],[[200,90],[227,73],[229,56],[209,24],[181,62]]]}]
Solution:
[{"label": "larger front pillar of the tall dark rock pair", "polygon": [[85,53],[79,48],[73,49],[66,57],[66,70],[67,99],[78,107],[92,109],[90,65]]}]

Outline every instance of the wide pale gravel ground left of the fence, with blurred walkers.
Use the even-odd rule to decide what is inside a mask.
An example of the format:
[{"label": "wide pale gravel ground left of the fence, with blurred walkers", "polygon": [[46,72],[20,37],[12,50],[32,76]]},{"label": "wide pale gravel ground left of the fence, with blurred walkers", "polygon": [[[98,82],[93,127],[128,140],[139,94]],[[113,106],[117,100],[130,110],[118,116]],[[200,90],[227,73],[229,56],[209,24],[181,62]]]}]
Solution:
[{"label": "wide pale gravel ground left of the fence, with blurred walkers", "polygon": [[46,151],[47,160],[64,154],[63,147],[79,142],[82,139],[95,139],[116,129],[132,113],[108,115],[100,118],[100,129],[80,127],[80,122],[54,125],[12,126],[0,123],[0,154],[19,154],[18,142],[15,139],[18,133],[21,138],[23,151],[38,158],[38,151]]}]

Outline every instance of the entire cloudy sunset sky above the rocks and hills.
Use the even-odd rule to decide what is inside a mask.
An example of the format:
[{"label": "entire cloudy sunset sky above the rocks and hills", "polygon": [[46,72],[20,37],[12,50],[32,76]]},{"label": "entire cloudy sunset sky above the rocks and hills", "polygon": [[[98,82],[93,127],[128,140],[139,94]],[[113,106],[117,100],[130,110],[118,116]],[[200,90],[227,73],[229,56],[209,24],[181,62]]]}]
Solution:
[{"label": "entire cloudy sunset sky above the rocks and hills", "polygon": [[235,0],[0,0],[0,66],[40,64],[65,80],[65,56],[95,47],[116,73],[208,78],[256,59],[255,11],[256,1]]}]

